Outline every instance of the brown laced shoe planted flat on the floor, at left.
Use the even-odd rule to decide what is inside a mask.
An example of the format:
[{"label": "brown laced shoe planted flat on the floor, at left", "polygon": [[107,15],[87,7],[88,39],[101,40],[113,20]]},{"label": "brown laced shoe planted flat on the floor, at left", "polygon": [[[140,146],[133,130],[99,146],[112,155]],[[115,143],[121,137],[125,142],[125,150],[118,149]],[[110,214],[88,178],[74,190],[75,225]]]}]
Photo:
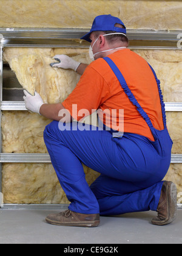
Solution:
[{"label": "brown laced shoe planted flat on the floor, at left", "polygon": [[60,226],[96,227],[99,225],[99,214],[83,214],[70,210],[58,214],[50,214],[45,218],[50,224]]}]

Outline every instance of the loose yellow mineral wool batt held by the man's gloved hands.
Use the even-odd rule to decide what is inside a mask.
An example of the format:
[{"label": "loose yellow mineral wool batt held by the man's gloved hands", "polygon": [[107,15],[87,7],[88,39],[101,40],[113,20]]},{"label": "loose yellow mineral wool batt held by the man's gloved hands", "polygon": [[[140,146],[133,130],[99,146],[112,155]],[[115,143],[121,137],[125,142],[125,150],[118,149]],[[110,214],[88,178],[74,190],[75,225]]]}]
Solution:
[{"label": "loose yellow mineral wool batt held by the man's gloved hands", "polygon": [[[52,49],[5,49],[4,60],[15,71],[22,87],[34,94],[37,91],[44,102],[58,103],[64,101],[73,91],[79,80],[79,74],[71,69],[52,68],[54,52]],[[78,50],[77,50],[78,51]],[[24,53],[23,53],[24,52]],[[89,54],[76,54],[73,59],[90,63]]]}]

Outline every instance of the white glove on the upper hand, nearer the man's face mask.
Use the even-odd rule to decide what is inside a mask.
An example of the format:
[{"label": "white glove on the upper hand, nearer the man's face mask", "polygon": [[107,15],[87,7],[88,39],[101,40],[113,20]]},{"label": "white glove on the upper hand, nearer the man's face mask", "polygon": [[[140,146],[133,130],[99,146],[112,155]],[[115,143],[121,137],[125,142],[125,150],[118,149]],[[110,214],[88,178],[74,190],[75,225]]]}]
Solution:
[{"label": "white glove on the upper hand, nearer the man's face mask", "polygon": [[61,55],[55,55],[53,59],[57,60],[59,63],[50,63],[50,66],[53,68],[64,68],[68,69],[71,68],[76,71],[78,66],[81,64],[81,62],[76,62],[76,60],[73,60],[72,58],[68,57],[67,55],[61,54]]}]

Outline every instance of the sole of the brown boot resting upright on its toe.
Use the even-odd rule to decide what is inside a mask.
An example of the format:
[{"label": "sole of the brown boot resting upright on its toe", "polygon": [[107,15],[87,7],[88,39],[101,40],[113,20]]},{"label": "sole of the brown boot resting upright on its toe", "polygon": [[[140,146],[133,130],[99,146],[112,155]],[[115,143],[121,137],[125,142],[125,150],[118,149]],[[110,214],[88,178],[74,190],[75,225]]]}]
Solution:
[{"label": "sole of the brown boot resting upright on its toe", "polygon": [[177,217],[177,187],[173,182],[167,182],[166,184],[167,191],[167,201],[168,201],[168,218],[163,221],[152,220],[153,225],[163,226],[167,225],[170,222],[174,221]]}]

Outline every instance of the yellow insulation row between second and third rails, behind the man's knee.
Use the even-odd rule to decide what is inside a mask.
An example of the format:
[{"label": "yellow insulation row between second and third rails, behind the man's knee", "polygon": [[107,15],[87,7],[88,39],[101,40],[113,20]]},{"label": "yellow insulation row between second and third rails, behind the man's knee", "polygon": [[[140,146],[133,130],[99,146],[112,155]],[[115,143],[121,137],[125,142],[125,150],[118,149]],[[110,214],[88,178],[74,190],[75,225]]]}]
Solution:
[{"label": "yellow insulation row between second and third rails, behind the man's knee", "polygon": [[[182,113],[166,112],[167,129],[174,144],[172,154],[182,154]],[[25,111],[2,112],[2,152],[47,153],[43,132],[49,119]]]}]

